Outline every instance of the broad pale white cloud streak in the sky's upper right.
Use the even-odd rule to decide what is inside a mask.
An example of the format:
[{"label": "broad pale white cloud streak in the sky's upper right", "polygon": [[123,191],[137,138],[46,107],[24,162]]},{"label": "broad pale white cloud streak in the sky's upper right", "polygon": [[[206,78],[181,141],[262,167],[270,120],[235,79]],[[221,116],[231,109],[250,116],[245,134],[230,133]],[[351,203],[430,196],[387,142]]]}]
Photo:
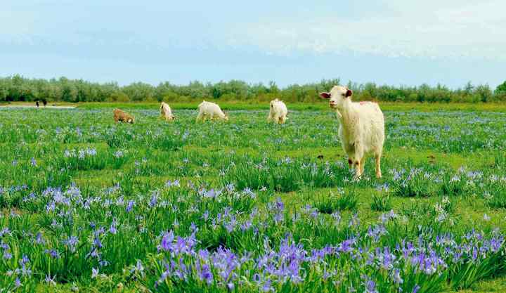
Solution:
[{"label": "broad pale white cloud streak in the sky's upper right", "polygon": [[367,18],[339,18],[337,11],[314,20],[276,18],[248,23],[229,35],[228,44],[257,46],[280,55],[349,51],[393,57],[504,61],[504,11],[503,0],[387,0],[383,11]]}]

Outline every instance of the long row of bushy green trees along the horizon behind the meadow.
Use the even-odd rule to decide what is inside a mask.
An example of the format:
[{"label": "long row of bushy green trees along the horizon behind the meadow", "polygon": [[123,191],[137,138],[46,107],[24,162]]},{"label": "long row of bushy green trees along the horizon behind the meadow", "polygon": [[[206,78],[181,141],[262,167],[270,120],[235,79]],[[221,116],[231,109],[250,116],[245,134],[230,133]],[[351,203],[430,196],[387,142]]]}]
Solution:
[{"label": "long row of bushy green trees along the horizon behind the meadow", "polygon": [[[63,101],[63,102],[191,102],[202,99],[223,101],[268,101],[280,98],[287,102],[313,102],[318,93],[328,91],[340,79],[325,79],[311,84],[292,84],[284,88],[275,82],[248,84],[240,80],[207,83],[190,82],[176,85],[162,82],[157,86],[134,82],[119,86],[116,82],[95,83],[82,79],[28,79],[20,75],[0,77],[0,102],[10,101]],[[379,100],[389,102],[443,102],[490,103],[506,101],[506,82],[491,89],[488,85],[470,82],[460,89],[449,89],[438,84],[429,86],[387,86],[374,83],[347,83],[353,90],[354,100]]]}]

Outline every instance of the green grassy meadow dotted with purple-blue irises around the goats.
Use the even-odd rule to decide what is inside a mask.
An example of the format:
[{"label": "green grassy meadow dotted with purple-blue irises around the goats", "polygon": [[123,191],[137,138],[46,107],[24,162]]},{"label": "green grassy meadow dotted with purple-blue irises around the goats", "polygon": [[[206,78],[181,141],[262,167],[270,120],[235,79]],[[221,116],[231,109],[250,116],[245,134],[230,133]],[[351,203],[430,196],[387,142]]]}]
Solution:
[{"label": "green grassy meadow dotted with purple-blue irises around the goats", "polygon": [[382,103],[361,181],[325,103],[171,105],[0,109],[0,292],[506,292],[504,105]]}]

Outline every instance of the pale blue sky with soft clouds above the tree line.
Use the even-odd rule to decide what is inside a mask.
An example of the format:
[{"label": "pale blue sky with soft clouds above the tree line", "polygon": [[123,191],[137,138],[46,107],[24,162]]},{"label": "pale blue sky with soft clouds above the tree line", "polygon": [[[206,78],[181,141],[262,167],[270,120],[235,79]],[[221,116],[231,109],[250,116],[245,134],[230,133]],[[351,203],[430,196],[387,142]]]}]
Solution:
[{"label": "pale blue sky with soft clouds above the tree line", "polygon": [[0,0],[0,76],[279,86],[506,80],[506,1]]}]

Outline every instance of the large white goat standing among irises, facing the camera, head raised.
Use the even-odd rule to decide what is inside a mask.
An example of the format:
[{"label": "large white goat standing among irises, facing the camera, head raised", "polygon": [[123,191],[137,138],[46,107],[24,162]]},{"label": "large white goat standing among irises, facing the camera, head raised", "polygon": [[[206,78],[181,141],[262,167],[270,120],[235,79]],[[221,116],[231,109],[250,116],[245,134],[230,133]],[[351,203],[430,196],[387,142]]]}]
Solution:
[{"label": "large white goat standing among irises, facing the camera, head raised", "polygon": [[350,168],[355,167],[355,177],[364,171],[365,155],[375,155],[376,177],[381,178],[381,156],[384,143],[384,117],[380,106],[373,102],[352,102],[353,92],[344,86],[334,86],[329,93],[320,93],[330,98],[330,108],[339,119],[339,138],[348,155]]}]

